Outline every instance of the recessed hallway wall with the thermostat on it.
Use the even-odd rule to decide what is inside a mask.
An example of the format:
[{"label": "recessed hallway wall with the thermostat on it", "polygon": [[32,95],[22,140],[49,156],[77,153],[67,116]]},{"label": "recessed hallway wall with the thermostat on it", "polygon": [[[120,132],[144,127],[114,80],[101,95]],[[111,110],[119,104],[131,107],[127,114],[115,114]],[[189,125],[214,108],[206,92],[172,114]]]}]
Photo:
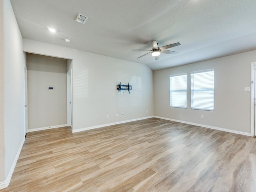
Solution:
[{"label": "recessed hallway wall with the thermostat on it", "polygon": [[27,68],[28,131],[67,124],[67,60],[28,53]]}]

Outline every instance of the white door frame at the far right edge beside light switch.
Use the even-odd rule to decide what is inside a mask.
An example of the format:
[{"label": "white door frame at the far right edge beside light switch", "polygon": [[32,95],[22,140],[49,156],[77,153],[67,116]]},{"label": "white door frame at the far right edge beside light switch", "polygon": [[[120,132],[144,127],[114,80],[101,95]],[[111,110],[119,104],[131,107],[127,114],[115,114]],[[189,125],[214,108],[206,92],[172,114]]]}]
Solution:
[{"label": "white door frame at the far right edge beside light switch", "polygon": [[[256,66],[256,62],[251,62],[251,136],[256,135],[255,131],[255,111],[254,111],[254,103],[256,104],[256,95],[254,95],[254,66]],[[255,101],[255,102],[254,102]]]}]

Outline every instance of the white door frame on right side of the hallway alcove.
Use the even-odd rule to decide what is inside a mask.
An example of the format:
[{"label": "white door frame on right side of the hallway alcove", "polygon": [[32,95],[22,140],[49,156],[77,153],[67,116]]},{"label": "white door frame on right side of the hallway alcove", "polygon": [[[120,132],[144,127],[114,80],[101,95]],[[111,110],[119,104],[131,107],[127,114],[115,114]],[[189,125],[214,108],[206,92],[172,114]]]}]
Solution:
[{"label": "white door frame on right side of the hallway alcove", "polygon": [[[69,77],[68,77],[69,76]],[[68,80],[70,78],[70,81]],[[70,96],[70,98],[69,98]],[[70,101],[69,101],[70,100]],[[69,103],[71,102],[71,103]],[[67,72],[67,124],[73,130],[72,69]]]}]

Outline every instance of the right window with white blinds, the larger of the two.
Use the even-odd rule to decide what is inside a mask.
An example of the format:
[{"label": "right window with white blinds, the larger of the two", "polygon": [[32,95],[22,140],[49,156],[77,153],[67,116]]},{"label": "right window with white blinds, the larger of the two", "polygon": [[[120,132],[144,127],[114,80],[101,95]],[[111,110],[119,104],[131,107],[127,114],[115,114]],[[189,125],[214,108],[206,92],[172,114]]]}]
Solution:
[{"label": "right window with white blinds, the larger of the two", "polygon": [[214,110],[214,70],[191,72],[191,109]]}]

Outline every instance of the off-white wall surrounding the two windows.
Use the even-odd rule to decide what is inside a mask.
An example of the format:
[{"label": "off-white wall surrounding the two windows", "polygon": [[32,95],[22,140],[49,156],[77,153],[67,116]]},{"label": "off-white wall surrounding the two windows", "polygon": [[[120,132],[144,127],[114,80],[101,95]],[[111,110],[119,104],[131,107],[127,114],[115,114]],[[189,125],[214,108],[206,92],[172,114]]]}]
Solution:
[{"label": "off-white wall surrounding the two windows", "polygon": [[[154,115],[250,133],[250,92],[244,92],[244,87],[250,87],[250,62],[254,61],[256,51],[251,51],[154,71]],[[214,111],[190,109],[190,72],[212,68]],[[169,76],[181,73],[188,74],[186,109],[170,107]]]}]

